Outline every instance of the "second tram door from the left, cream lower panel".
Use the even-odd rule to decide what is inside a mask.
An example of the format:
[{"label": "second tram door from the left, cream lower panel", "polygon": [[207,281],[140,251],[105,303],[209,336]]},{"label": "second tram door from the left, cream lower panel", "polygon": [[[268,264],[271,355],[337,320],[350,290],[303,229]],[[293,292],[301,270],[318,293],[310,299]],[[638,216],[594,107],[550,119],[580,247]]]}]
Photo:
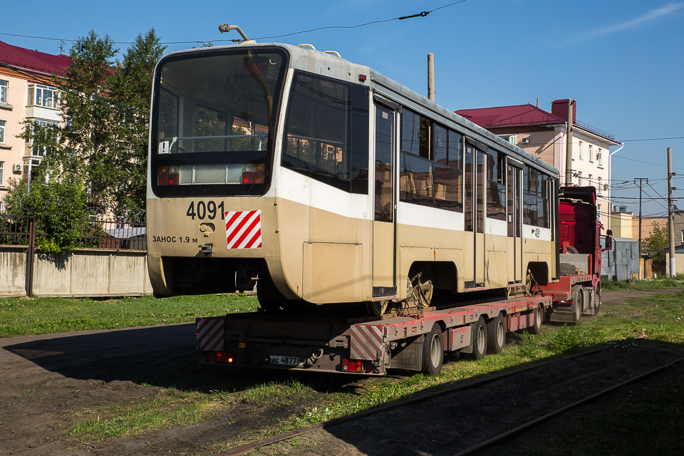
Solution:
[{"label": "second tram door from the left, cream lower panel", "polygon": [[484,152],[465,146],[465,288],[484,286]]}]

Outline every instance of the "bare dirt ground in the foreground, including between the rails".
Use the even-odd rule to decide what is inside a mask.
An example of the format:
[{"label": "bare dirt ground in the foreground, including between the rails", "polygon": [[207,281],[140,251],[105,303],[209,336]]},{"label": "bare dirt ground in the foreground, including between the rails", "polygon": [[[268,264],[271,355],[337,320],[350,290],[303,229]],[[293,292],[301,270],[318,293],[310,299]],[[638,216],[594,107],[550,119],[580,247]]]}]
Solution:
[{"label": "bare dirt ground in the foreground, including between the rails", "polygon": [[[655,292],[612,291],[604,293],[603,301],[618,303],[651,294]],[[683,354],[682,347],[616,346],[477,390],[442,395],[318,430],[254,454],[453,455],[523,418],[542,415]],[[68,428],[83,420],[88,410],[151,397],[160,388],[174,385],[174,371],[168,366],[176,366],[176,371],[197,369],[194,324],[0,339],[0,455],[209,455],[218,443],[253,434],[252,429],[293,412],[287,407],[232,404],[197,425],[93,445],[68,435]],[[166,375],[160,375],[165,371]],[[206,375],[186,387],[220,388],[224,373],[199,372]],[[267,378],[254,371],[249,377],[254,377],[255,384]],[[150,383],[150,379],[154,380]],[[511,449],[506,454],[514,454]]]}]

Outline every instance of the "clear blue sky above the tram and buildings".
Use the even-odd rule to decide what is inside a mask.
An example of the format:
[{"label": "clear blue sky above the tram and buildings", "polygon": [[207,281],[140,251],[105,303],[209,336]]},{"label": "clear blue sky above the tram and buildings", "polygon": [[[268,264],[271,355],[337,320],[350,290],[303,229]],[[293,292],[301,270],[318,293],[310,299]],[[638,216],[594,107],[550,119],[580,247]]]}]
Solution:
[{"label": "clear blue sky above the tram and buildings", "polygon": [[539,99],[550,112],[553,100],[576,100],[577,120],[623,142],[612,156],[613,204],[635,214],[638,177],[648,179],[643,215],[667,214],[672,147],[684,209],[684,0],[35,0],[10,2],[3,16],[1,41],[53,54],[91,29],[121,51],[150,28],[167,51],[220,46],[239,34],[219,24],[237,24],[259,42],[338,51],[423,95],[433,53],[436,101],[449,110]]}]

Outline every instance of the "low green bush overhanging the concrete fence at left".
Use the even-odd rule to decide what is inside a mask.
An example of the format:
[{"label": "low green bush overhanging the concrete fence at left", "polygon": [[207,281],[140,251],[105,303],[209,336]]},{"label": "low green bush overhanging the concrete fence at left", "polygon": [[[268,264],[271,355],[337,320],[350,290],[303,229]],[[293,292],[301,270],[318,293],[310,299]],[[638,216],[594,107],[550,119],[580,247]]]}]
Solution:
[{"label": "low green bush overhanging the concrete fence at left", "polygon": [[6,210],[14,217],[36,217],[36,244],[43,253],[68,254],[87,234],[88,209],[81,182],[34,179],[12,184],[5,197]]}]

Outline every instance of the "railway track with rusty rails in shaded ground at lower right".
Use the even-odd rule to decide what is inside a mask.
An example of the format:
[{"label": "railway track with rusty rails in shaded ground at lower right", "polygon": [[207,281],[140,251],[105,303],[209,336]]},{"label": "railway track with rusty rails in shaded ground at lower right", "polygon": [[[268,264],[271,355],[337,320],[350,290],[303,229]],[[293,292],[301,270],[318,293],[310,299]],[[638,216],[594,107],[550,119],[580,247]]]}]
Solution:
[{"label": "railway track with rusty rails in shaded ground at lower right", "polygon": [[[468,383],[462,383],[458,385],[453,385],[450,388],[445,388],[442,390],[438,391],[433,391],[430,393],[426,393],[424,395],[420,395],[419,397],[416,398],[408,398],[405,400],[398,400],[393,403],[387,404],[380,406],[378,408],[373,408],[371,410],[364,410],[359,413],[355,413],[352,415],[348,415],[343,418],[338,418],[335,420],[329,420],[324,423],[317,423],[315,425],[311,425],[309,427],[303,427],[299,430],[292,430],[289,432],[284,432],[279,435],[275,435],[272,437],[267,437],[262,440],[257,440],[254,442],[249,442],[244,445],[240,445],[239,447],[234,447],[231,450],[228,450],[227,452],[224,452],[223,454],[225,456],[241,456],[241,455],[246,455],[249,452],[253,452],[255,450],[258,450],[259,447],[266,447],[269,445],[273,445],[278,442],[284,442],[286,440],[290,440],[294,437],[298,436],[306,436],[306,435],[311,435],[314,432],[320,431],[320,430],[326,430],[327,432],[331,432],[333,434],[338,434],[338,435],[343,435],[344,432],[336,432],[338,428],[341,427],[349,427],[349,426],[355,426],[356,423],[361,423],[365,418],[371,417],[371,415],[382,415],[382,414],[388,414],[388,413],[394,413],[394,417],[389,419],[389,420],[383,420],[383,418],[378,418],[374,417],[373,418],[373,423],[381,423],[383,421],[385,422],[393,422],[396,420],[396,413],[397,410],[401,408],[422,408],[422,409],[432,409],[432,405],[429,405],[429,403],[434,403],[435,401],[442,400],[442,402],[452,402],[452,408],[459,408],[459,404],[457,403],[457,399],[454,399],[452,397],[450,398],[442,398],[442,396],[447,396],[447,395],[457,395],[460,391],[464,390],[473,390],[471,393],[475,393],[475,391],[478,392],[478,395],[482,395],[482,399],[486,400],[487,394],[483,394],[482,390],[489,390],[490,393],[492,391],[502,391],[500,395],[506,395],[507,392],[505,391],[507,387],[510,387],[512,384],[513,385],[513,390],[516,389],[515,384],[520,383],[522,385],[521,388],[524,388],[524,385],[527,385],[527,389],[529,389],[529,378],[534,378],[535,375],[537,375],[539,372],[544,371],[544,370],[549,370],[552,369],[554,371],[558,371],[559,373],[562,373],[564,371],[568,370],[568,367],[561,367],[564,365],[575,365],[574,368],[570,368],[571,370],[576,370],[576,365],[579,364],[581,361],[580,358],[586,358],[586,359],[591,359],[592,357],[600,358],[596,360],[596,363],[588,363],[588,367],[586,368],[586,372],[584,375],[579,375],[579,383],[576,385],[574,388],[574,392],[572,394],[569,394],[569,399],[565,400],[564,402],[560,402],[558,407],[554,407],[552,410],[534,410],[534,413],[528,413],[530,410],[527,408],[521,408],[520,405],[517,406],[517,411],[523,411],[523,415],[527,418],[527,415],[532,415],[535,418],[531,420],[527,420],[522,424],[519,424],[521,420],[515,419],[513,421],[508,420],[507,425],[502,423],[502,426],[500,427],[503,429],[502,432],[494,431],[494,432],[480,432],[480,435],[477,437],[477,441],[469,442],[467,444],[467,447],[465,447],[462,450],[459,450],[458,452],[453,452],[453,451],[444,451],[444,449],[436,452],[436,454],[439,455],[453,455],[453,456],[461,456],[461,455],[470,455],[474,454],[477,452],[480,452],[482,450],[488,449],[489,447],[494,447],[495,445],[501,443],[504,440],[507,440],[511,437],[516,437],[519,436],[522,432],[529,430],[530,428],[539,425],[543,423],[546,420],[550,420],[551,418],[554,418],[558,415],[561,415],[563,413],[568,412],[569,410],[572,410],[573,408],[578,407],[579,405],[583,405],[585,403],[590,402],[591,400],[596,400],[597,398],[601,398],[603,395],[607,395],[608,393],[611,393],[615,390],[618,390],[619,388],[623,388],[626,385],[629,385],[631,383],[636,383],[640,380],[643,380],[644,378],[647,378],[651,375],[654,375],[656,373],[660,373],[664,371],[667,368],[670,368],[671,366],[674,366],[675,364],[682,363],[684,361],[683,358],[676,358],[668,359],[667,362],[660,362],[657,363],[657,366],[652,366],[653,363],[649,364],[648,367],[644,368],[643,363],[637,363],[638,367],[636,370],[638,372],[632,372],[633,370],[628,369],[631,373],[626,374],[627,371],[620,371],[616,373],[616,375],[611,375],[611,367],[614,366],[602,366],[603,358],[611,358],[611,356],[606,356],[606,351],[615,351],[615,350],[620,350],[620,348],[616,348],[614,346],[606,346],[602,348],[597,348],[591,351],[586,351],[583,353],[578,353],[572,356],[566,356],[564,358],[559,358],[556,360],[551,360],[551,361],[546,361],[544,363],[539,363],[535,364],[534,366],[528,366],[525,368],[520,368],[516,369],[514,371],[509,371],[506,373],[502,373],[499,375],[494,375],[489,378],[483,378],[481,380],[475,380],[471,381]],[[638,350],[638,348],[636,348]],[[615,358],[615,357],[613,357]],[[582,360],[582,361],[586,361]],[[625,358],[622,358],[623,362],[621,364],[625,364]],[[594,366],[596,364],[596,366]],[[631,364],[631,363],[627,363]],[[632,366],[633,367],[633,366]],[[641,368],[641,370],[639,370]],[[614,372],[613,372],[614,373]],[[553,376],[553,375],[551,375]],[[627,378],[624,378],[627,377]],[[519,380],[516,380],[518,379]],[[564,379],[564,378],[559,378],[559,382],[554,385],[554,389],[563,389],[564,388],[564,383],[573,383],[573,381],[576,379]],[[509,383],[509,385],[505,385],[506,383]],[[606,385],[606,383],[610,383],[609,385]],[[601,385],[599,388],[589,388],[586,387],[585,385]],[[502,386],[503,385],[503,386]],[[525,395],[525,390],[522,389],[522,395],[521,399],[524,401],[524,395]],[[494,393],[494,395],[497,395],[497,393]],[[534,402],[534,398],[532,398],[532,402]],[[550,402],[554,402],[551,400]],[[502,404],[505,406],[505,404]],[[515,403],[513,403],[515,405]],[[482,410],[480,412],[482,414],[487,414],[489,411],[487,410],[488,407],[485,405],[482,407]],[[416,415],[418,412],[408,412],[410,415]],[[435,412],[437,413],[437,412]],[[477,412],[476,412],[477,413]],[[516,415],[519,416],[519,413],[511,413],[511,410],[508,410],[509,415]],[[466,415],[462,415],[462,418],[465,417]],[[465,418],[463,418],[464,421]],[[516,423],[515,425],[512,425],[511,423]],[[457,427],[460,425],[458,421],[455,421],[453,426]],[[369,428],[368,425],[362,425],[359,424],[359,427],[361,429],[365,430],[367,433],[373,432],[373,428]],[[442,425],[442,427],[444,427]],[[496,426],[494,426],[496,427]],[[467,429],[465,430],[464,433],[467,432]],[[491,435],[491,434],[494,435]],[[442,432],[440,432],[442,434]],[[423,434],[424,435],[424,434]],[[480,438],[480,436],[482,438]],[[479,439],[479,440],[478,440]],[[460,440],[461,442],[465,442],[467,440]],[[446,442],[445,442],[446,443]],[[415,453],[410,453],[410,454],[415,454]],[[421,452],[423,454],[423,452]],[[432,454],[431,452],[427,451],[425,454]]]}]

